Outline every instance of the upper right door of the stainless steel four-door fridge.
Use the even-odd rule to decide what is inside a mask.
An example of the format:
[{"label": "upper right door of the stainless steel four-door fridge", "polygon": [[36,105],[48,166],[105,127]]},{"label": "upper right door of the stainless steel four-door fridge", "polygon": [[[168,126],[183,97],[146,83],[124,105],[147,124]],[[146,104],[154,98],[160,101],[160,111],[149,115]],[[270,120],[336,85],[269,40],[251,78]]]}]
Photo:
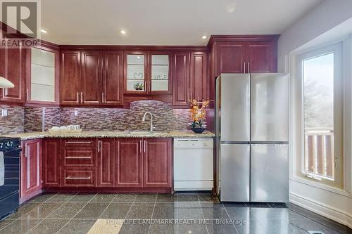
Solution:
[{"label": "upper right door of the stainless steel four-door fridge", "polygon": [[251,141],[289,141],[288,74],[251,74]]}]

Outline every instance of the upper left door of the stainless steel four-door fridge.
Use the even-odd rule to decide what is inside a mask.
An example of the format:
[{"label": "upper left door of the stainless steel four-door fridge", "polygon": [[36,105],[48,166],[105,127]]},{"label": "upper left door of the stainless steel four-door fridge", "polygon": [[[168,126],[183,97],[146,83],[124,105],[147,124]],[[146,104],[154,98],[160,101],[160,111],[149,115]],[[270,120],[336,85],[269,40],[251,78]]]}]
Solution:
[{"label": "upper left door of the stainless steel four-door fridge", "polygon": [[221,74],[217,119],[221,141],[249,141],[249,74]]}]

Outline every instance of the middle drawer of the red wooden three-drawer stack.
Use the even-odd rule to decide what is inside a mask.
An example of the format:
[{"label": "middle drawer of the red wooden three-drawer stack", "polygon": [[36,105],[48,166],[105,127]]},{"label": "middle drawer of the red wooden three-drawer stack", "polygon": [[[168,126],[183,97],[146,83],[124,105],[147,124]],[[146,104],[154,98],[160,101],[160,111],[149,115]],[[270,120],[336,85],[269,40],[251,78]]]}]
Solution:
[{"label": "middle drawer of the red wooden three-drawer stack", "polygon": [[63,167],[96,167],[96,148],[63,148]]}]

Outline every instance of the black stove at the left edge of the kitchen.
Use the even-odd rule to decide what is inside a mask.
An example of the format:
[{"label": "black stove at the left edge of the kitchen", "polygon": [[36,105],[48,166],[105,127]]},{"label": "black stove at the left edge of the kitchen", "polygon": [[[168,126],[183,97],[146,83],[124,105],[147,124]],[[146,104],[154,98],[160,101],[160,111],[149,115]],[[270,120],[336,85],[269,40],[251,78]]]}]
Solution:
[{"label": "black stove at the left edge of the kitchen", "polygon": [[0,136],[0,220],[20,203],[20,139]]}]

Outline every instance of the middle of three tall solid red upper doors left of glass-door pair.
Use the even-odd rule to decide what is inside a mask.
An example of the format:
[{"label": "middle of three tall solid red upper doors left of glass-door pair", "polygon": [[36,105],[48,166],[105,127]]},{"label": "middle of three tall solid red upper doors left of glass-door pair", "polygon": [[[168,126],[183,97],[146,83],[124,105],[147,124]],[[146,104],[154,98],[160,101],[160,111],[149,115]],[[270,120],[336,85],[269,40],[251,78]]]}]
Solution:
[{"label": "middle of three tall solid red upper doors left of glass-door pair", "polygon": [[82,52],[82,104],[101,103],[101,52]]}]

